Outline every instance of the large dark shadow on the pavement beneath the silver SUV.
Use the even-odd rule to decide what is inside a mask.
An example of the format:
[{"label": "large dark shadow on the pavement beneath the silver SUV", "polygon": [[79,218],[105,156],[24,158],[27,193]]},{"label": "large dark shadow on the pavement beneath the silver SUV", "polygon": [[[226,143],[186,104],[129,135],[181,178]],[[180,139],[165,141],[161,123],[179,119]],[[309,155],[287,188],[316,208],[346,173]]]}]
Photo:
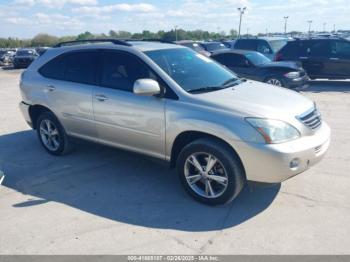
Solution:
[{"label": "large dark shadow on the pavement beneath the silver SUV", "polygon": [[208,207],[189,198],[176,172],[157,160],[82,141],[71,154],[54,157],[33,131],[0,136],[0,165],[3,186],[27,196],[13,208],[54,201],[122,223],[191,232],[243,223],[280,190],[280,184],[247,186],[233,203]]}]

